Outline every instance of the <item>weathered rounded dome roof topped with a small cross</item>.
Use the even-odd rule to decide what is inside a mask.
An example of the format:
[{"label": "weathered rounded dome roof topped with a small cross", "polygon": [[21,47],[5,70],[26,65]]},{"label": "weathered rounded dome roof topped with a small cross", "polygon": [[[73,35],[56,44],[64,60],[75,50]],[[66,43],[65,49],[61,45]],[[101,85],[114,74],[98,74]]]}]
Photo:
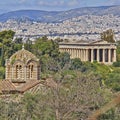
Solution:
[{"label": "weathered rounded dome roof topped with a small cross", "polygon": [[29,52],[28,50],[25,50],[24,47],[22,48],[22,50],[14,53],[9,60],[12,64],[14,64],[15,61],[21,61],[23,63],[27,63],[30,60],[39,61],[39,59],[34,54]]}]

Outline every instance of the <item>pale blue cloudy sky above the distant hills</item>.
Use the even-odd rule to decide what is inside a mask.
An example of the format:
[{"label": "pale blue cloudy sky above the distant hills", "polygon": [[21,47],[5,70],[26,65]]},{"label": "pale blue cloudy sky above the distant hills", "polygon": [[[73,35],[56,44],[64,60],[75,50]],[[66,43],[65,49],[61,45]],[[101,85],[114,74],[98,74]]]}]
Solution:
[{"label": "pale blue cloudy sky above the distant hills", "polygon": [[120,0],[0,0],[0,12],[19,9],[55,11],[108,5],[120,5]]}]

